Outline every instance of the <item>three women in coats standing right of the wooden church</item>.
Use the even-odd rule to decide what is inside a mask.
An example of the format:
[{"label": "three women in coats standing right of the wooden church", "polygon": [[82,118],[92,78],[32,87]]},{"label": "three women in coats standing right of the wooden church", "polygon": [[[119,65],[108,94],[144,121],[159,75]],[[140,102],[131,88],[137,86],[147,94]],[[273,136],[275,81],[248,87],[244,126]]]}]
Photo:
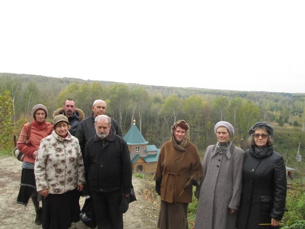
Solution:
[{"label": "three women in coats standing right of the wooden church", "polygon": [[230,141],[230,123],[218,122],[214,132],[217,143],[207,147],[201,164],[188,124],[181,120],[173,125],[154,176],[161,197],[158,228],[188,228],[193,185],[198,198],[195,229],[279,228],[287,184],[283,157],[273,150],[273,127],[255,123],[245,152]]}]

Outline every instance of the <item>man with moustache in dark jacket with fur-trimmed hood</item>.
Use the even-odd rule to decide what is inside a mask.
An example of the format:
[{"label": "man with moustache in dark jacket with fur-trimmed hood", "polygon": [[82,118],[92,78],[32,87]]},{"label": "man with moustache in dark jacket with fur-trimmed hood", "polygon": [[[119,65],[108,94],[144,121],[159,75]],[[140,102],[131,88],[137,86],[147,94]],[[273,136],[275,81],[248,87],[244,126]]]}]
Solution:
[{"label": "man with moustache in dark jacket with fur-trimmed hood", "polygon": [[84,112],[81,109],[76,108],[75,101],[70,98],[66,99],[62,108],[58,108],[56,111],[54,111],[53,118],[56,115],[65,115],[68,118],[69,125],[71,126],[69,132],[73,136],[75,135],[77,125],[85,117]]}]

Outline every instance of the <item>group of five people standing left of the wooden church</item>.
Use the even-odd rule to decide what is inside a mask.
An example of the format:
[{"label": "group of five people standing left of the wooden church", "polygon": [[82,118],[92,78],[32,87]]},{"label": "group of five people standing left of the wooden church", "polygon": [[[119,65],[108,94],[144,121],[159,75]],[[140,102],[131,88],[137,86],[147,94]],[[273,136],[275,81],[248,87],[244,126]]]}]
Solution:
[{"label": "group of five people standing left of the wooden church", "polygon": [[37,104],[34,120],[20,133],[17,148],[25,156],[17,203],[27,206],[32,198],[34,222],[44,229],[66,229],[79,221],[81,194],[92,197],[99,228],[123,228],[119,207],[131,192],[129,150],[117,122],[105,115],[105,101],[95,100],[92,111],[84,119],[67,99],[51,124],[45,121],[47,108]]}]

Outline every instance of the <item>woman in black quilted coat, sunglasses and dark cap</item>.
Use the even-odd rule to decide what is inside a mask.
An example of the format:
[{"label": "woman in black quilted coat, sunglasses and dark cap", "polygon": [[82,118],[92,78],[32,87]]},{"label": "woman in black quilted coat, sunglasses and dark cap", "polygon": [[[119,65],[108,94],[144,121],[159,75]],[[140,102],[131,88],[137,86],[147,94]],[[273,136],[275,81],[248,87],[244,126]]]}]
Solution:
[{"label": "woman in black quilted coat, sunglasses and dark cap", "polygon": [[267,122],[257,122],[249,130],[238,229],[278,228],[284,215],[286,169],[283,157],[273,150],[273,132]]}]

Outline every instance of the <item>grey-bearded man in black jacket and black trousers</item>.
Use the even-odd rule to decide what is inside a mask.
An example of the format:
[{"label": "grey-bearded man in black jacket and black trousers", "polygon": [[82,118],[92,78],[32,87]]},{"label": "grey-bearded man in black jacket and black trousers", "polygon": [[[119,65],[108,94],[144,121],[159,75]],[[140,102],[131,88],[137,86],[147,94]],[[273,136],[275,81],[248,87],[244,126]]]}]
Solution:
[{"label": "grey-bearded man in black jacket and black trousers", "polygon": [[96,134],[85,146],[85,174],[98,228],[123,229],[119,207],[131,190],[132,168],[125,140],[114,134],[107,115],[95,118]]}]

